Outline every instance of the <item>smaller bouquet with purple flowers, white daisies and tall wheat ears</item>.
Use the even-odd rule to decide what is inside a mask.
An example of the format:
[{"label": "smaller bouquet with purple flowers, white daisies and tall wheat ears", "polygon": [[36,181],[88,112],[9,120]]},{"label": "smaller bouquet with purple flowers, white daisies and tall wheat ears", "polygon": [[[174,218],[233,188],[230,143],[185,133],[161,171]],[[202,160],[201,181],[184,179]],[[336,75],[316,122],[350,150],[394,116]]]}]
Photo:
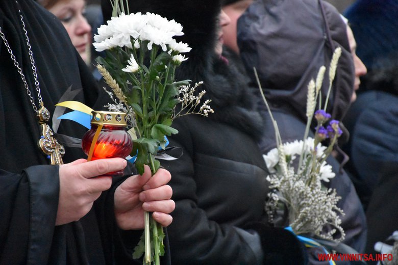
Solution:
[{"label": "smaller bouquet with purple flowers, white daisies and tall wheat ears", "polygon": [[[275,127],[277,141],[277,148],[264,155],[270,173],[267,180],[272,189],[265,203],[269,220],[273,221],[278,210],[286,209],[289,229],[295,234],[337,242],[344,239],[339,217],[343,215],[343,211],[336,205],[340,197],[336,196],[335,190],[327,189],[322,181],[328,182],[330,178],[335,177],[332,167],[326,163],[326,158],[331,154],[337,138],[342,134],[339,122],[336,120],[331,120],[326,128],[324,126],[331,118],[331,115],[326,113],[326,107],[340,55],[341,48],[337,48],[330,65],[330,85],[323,108],[319,93],[326,71],[324,66],[319,69],[316,81],[312,80],[308,85],[307,126],[303,141],[282,143],[278,124],[272,117],[258,81]],[[255,74],[257,76],[257,73]],[[315,111],[318,97],[318,110]],[[314,138],[310,138],[308,133],[314,116],[317,126]],[[327,138],[329,138],[329,146],[322,146],[321,142]],[[338,235],[337,238],[336,235]]]}]

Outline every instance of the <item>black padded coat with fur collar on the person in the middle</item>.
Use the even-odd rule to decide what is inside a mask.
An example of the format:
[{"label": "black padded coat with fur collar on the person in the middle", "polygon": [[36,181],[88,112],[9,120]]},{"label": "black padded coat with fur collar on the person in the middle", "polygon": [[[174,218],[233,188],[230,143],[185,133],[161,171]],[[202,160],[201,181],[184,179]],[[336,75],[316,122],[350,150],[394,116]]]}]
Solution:
[{"label": "black padded coat with fur collar on the person in the middle", "polygon": [[[176,209],[168,227],[173,264],[300,264],[303,248],[281,228],[265,226],[265,162],[256,142],[255,101],[233,66],[216,63],[207,86],[209,117],[178,118],[170,146],[183,150],[170,171]],[[213,80],[213,81],[214,81]]]}]

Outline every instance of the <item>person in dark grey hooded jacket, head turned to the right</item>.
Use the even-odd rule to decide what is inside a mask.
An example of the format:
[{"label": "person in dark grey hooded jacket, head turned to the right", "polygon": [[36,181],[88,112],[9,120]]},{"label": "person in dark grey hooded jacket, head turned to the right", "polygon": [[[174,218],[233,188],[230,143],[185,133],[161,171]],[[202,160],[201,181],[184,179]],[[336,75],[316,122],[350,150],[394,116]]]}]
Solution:
[{"label": "person in dark grey hooded jacket, head turned to the right", "polygon": [[[308,83],[316,77],[320,66],[329,66],[336,47],[341,47],[342,55],[327,111],[333,119],[344,117],[355,97],[355,80],[363,71],[358,71],[356,77],[354,61],[357,58],[349,43],[347,25],[332,5],[312,0],[254,1],[238,20],[237,36],[251,85],[259,95],[253,71],[256,67],[283,142],[302,140]],[[322,102],[325,102],[328,87],[326,75],[321,88]],[[266,122],[260,148],[266,154],[276,147],[276,141],[264,103],[261,108]],[[344,134],[347,137],[346,131]],[[350,177],[339,170],[339,162],[332,156],[327,162],[336,177],[325,184],[342,197],[337,205],[345,213],[341,217],[341,226],[346,232],[343,243],[361,253],[366,242],[366,220],[361,202]]]}]

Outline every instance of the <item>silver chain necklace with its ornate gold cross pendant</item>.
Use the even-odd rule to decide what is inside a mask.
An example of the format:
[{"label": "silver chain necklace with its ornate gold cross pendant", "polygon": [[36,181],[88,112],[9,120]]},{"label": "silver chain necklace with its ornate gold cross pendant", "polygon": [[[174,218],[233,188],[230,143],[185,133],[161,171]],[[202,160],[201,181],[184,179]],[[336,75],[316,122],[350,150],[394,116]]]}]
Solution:
[{"label": "silver chain necklace with its ornate gold cross pendant", "polygon": [[[16,1],[16,4],[18,4],[18,1]],[[39,87],[39,80],[37,78],[37,73],[36,73],[36,66],[35,66],[35,60],[33,59],[33,52],[32,52],[32,47],[29,42],[29,37],[28,37],[28,32],[25,28],[25,23],[23,22],[23,17],[21,10],[18,8],[20,19],[22,22],[22,29],[23,32],[26,36],[26,44],[29,49],[29,58],[30,62],[32,65],[32,71],[33,71],[33,77],[35,79],[35,86],[36,86],[36,92],[37,92],[37,98],[39,101],[40,108],[37,109],[34,98],[32,97],[32,92],[29,89],[28,82],[26,81],[25,75],[23,74],[22,69],[19,67],[19,64],[12,52],[12,49],[10,45],[8,44],[8,41],[6,39],[6,36],[3,33],[2,28],[0,27],[0,37],[3,39],[4,45],[6,46],[8,53],[11,56],[11,60],[14,62],[15,67],[18,70],[18,73],[21,77],[22,83],[26,89],[27,95],[29,97],[29,100],[32,103],[33,111],[36,113],[37,118],[39,120],[39,125],[41,129],[41,137],[38,141],[38,146],[39,148],[48,156],[48,158],[51,160],[51,165],[61,165],[63,164],[62,161],[62,156],[65,154],[65,149],[63,145],[59,144],[57,139],[54,137],[54,131],[51,129],[51,127],[46,124],[46,122],[50,118],[50,113],[49,111],[44,107],[43,100],[41,98],[41,93],[40,93],[40,87]]]}]

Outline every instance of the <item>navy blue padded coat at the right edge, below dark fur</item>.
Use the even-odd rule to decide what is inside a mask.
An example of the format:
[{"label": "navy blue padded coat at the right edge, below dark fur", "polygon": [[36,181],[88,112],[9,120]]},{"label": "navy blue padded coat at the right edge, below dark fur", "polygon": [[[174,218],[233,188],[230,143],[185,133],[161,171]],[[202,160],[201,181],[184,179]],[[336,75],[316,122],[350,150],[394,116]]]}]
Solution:
[{"label": "navy blue padded coat at the right edge, below dark fur", "polygon": [[369,195],[379,181],[379,172],[398,163],[397,103],[394,94],[365,91],[358,95],[346,117],[352,128],[352,165]]}]

